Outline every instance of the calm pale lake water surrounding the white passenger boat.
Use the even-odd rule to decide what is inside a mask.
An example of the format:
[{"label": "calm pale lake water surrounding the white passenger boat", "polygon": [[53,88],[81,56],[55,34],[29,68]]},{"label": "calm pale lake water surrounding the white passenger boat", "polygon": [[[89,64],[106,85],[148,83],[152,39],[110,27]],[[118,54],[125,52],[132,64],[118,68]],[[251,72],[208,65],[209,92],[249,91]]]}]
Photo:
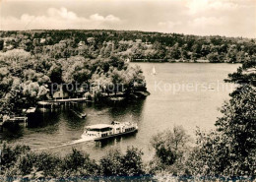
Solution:
[{"label": "calm pale lake water surrounding the white passenger boat", "polygon": [[[2,139],[11,144],[29,145],[32,150],[42,149],[64,155],[72,148],[100,158],[111,149],[125,151],[134,146],[144,152],[144,159],[150,159],[154,151],[150,146],[152,136],[174,125],[181,125],[195,138],[195,129],[211,130],[215,127],[218,110],[233,84],[225,84],[228,73],[236,71],[238,64],[196,64],[196,63],[130,63],[141,66],[147,81],[146,99],[117,101],[109,104],[83,103],[62,105],[53,110],[40,109],[37,118],[28,128],[17,126],[5,129]],[[156,75],[152,74],[155,67]],[[86,119],[78,118],[70,109],[88,113]],[[133,121],[139,131],[125,137],[104,142],[72,144],[80,139],[84,127],[111,121]],[[53,148],[63,145],[59,148]],[[40,151],[40,152],[41,152]]]}]

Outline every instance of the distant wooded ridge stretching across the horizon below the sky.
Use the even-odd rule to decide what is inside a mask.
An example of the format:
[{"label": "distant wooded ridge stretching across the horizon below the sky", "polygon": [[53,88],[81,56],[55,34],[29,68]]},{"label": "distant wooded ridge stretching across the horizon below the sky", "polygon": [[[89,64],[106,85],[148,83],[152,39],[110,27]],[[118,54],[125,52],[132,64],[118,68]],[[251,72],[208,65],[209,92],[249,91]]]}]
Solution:
[{"label": "distant wooded ridge stretching across the horizon below the sky", "polygon": [[119,57],[131,61],[243,62],[256,55],[255,39],[125,30],[1,31],[0,50],[23,48],[53,58]]}]

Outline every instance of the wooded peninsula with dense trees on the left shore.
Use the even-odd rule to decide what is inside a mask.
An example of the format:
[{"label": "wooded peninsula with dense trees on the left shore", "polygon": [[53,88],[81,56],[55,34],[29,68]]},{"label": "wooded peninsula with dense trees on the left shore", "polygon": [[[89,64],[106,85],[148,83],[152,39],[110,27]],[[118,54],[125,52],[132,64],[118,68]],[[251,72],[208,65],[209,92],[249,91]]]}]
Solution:
[{"label": "wooded peninsula with dense trees on the left shore", "polygon": [[126,59],[108,50],[99,55],[94,37],[87,38],[89,50],[81,40],[75,45],[76,36],[71,40],[69,34],[52,39],[15,32],[14,39],[13,33],[1,32],[11,39],[0,38],[0,119],[20,114],[40,100],[87,97],[102,101],[110,96],[149,94],[141,68],[129,66]]}]

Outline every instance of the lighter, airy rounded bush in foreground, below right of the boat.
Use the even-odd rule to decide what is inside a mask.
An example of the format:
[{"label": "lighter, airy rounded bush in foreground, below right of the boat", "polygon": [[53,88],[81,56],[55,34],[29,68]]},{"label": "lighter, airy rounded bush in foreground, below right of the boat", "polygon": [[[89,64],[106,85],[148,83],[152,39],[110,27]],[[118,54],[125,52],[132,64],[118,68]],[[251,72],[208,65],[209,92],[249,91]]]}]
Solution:
[{"label": "lighter, airy rounded bush in foreground, below right of the boat", "polygon": [[190,170],[186,162],[190,140],[181,126],[174,126],[173,130],[166,130],[154,136],[151,144],[156,155],[148,165],[148,172],[179,177],[189,175]]}]

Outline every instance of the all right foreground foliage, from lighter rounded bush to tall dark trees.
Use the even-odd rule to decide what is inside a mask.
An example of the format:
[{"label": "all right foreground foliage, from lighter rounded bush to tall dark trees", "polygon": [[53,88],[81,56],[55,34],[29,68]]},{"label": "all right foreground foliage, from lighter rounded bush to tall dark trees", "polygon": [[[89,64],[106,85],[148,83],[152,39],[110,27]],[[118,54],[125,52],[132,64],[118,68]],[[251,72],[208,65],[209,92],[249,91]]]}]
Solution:
[{"label": "all right foreground foliage, from lighter rounded bush to tall dark trees", "polygon": [[[256,178],[255,66],[256,61],[252,59],[236,73],[229,74],[227,82],[239,85],[224,102],[223,116],[216,121],[216,129],[211,132],[197,130],[194,148],[189,150],[182,129],[176,132],[174,128],[154,137],[152,144],[157,158],[152,162],[152,172],[160,179],[161,176],[178,176],[179,179],[192,176],[199,180],[252,181]],[[183,140],[177,140],[180,136]],[[182,149],[186,149],[187,157]]]}]

